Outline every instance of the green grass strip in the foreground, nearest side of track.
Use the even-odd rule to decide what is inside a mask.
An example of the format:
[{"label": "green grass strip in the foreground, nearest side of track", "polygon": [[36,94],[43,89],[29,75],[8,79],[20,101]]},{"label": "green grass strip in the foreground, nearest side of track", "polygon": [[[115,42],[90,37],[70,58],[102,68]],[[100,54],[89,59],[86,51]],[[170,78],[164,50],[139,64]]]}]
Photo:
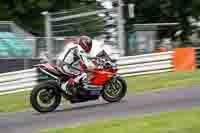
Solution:
[{"label": "green grass strip in the foreground, nearest side of track", "polygon": [[47,129],[40,133],[199,133],[200,109]]}]

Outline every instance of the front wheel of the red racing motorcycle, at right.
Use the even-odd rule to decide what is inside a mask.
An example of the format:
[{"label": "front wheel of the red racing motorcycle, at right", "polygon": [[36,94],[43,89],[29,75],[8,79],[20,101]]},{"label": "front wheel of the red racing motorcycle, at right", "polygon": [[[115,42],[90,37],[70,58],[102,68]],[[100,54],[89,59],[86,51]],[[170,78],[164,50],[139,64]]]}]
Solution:
[{"label": "front wheel of the red racing motorcycle, at right", "polygon": [[108,102],[118,102],[126,95],[126,92],[126,81],[121,77],[115,77],[104,86],[102,97]]}]

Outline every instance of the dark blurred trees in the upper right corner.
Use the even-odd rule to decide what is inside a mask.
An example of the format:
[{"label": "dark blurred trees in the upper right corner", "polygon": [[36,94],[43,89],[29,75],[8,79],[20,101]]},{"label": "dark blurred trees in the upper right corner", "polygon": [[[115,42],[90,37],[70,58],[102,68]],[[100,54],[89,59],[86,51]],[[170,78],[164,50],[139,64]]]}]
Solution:
[{"label": "dark blurred trees in the upper right corner", "polygon": [[[178,27],[182,30],[181,40],[187,41],[191,34],[193,27],[189,22],[189,18],[193,17],[196,20],[200,15],[200,1],[199,0],[129,0],[136,4],[135,14],[136,18],[133,20],[136,23],[164,23],[164,22],[178,22]],[[175,27],[177,28],[177,27]],[[161,30],[163,32],[174,34],[174,28]]]}]

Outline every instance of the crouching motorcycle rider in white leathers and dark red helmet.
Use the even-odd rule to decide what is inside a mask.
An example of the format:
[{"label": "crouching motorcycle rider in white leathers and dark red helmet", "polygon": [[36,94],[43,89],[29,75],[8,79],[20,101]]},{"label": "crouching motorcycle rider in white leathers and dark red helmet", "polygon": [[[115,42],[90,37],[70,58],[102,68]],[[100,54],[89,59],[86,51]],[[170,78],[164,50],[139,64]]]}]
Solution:
[{"label": "crouching motorcycle rider in white leathers and dark red helmet", "polygon": [[[81,36],[77,42],[66,44],[64,51],[59,55],[57,65],[63,73],[76,75],[68,81],[62,83],[61,88],[69,95],[75,93],[74,85],[80,79],[86,79],[85,69],[94,69],[95,65],[88,58],[92,49],[92,39],[88,36]],[[67,90],[68,89],[68,90]]]}]

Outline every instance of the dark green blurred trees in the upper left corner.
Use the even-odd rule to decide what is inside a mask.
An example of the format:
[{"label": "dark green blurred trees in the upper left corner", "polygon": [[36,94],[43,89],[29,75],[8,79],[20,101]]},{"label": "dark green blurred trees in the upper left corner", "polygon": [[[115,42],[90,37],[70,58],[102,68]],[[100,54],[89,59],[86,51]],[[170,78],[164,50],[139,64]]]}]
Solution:
[{"label": "dark green blurred trees in the upper left corner", "polygon": [[0,20],[12,20],[36,35],[43,35],[42,11],[61,11],[79,7],[78,0],[1,0]]}]

